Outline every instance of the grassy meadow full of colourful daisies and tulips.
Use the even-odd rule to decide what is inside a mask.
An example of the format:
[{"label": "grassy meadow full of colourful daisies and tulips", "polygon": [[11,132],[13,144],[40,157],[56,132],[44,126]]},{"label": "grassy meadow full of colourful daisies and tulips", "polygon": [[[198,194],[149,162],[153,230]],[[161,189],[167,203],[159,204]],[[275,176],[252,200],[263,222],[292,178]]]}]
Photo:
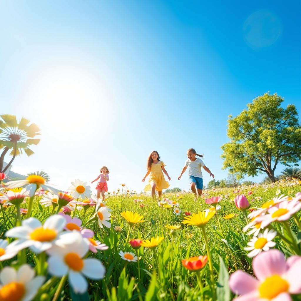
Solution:
[{"label": "grassy meadow full of colourful daisies and tulips", "polygon": [[[4,178],[4,176],[2,177]],[[25,187],[25,188],[20,188]],[[301,300],[301,182],[105,201],[5,183],[0,300]]]}]

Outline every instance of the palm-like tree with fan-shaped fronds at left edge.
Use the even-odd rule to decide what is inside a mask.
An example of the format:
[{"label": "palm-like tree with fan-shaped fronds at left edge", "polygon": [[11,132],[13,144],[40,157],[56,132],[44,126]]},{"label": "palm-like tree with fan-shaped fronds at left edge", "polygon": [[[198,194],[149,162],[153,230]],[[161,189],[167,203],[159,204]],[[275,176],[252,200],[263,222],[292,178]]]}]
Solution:
[{"label": "palm-like tree with fan-shaped fronds at left edge", "polygon": [[[0,120],[0,148],[3,149],[0,156],[0,172],[5,172],[14,158],[23,154],[23,151],[27,156],[34,154],[29,146],[40,142],[40,139],[34,139],[36,135],[40,135],[40,129],[35,123],[29,124],[30,121],[23,117],[19,122],[15,115],[2,114],[0,117],[3,119]],[[11,150],[10,155],[13,157],[3,169],[4,157],[8,150]]]}]

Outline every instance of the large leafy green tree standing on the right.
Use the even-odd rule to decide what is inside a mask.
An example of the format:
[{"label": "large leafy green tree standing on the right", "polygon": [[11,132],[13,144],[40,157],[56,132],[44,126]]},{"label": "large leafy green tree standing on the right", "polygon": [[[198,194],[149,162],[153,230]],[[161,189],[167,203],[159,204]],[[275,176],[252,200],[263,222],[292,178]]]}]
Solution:
[{"label": "large leafy green tree standing on the right", "polygon": [[238,116],[229,116],[228,137],[222,145],[223,169],[241,176],[265,172],[275,182],[278,163],[301,160],[301,128],[295,105],[281,107],[283,98],[265,93],[247,104]]}]

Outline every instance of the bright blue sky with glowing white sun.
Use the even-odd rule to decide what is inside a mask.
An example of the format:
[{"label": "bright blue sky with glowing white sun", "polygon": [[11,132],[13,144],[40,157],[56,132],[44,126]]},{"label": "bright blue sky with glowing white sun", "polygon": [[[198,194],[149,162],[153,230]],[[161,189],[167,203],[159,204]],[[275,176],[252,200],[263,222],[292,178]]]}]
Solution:
[{"label": "bright blue sky with glowing white sun", "polygon": [[194,147],[216,179],[225,178],[220,146],[229,114],[267,91],[301,112],[300,8],[297,1],[0,2],[2,113],[42,132],[35,155],[16,158],[12,170],[42,169],[66,189],[106,165],[109,191],[120,183],[141,191],[147,156],[157,150],[171,187],[187,190],[188,172],[177,178]]}]

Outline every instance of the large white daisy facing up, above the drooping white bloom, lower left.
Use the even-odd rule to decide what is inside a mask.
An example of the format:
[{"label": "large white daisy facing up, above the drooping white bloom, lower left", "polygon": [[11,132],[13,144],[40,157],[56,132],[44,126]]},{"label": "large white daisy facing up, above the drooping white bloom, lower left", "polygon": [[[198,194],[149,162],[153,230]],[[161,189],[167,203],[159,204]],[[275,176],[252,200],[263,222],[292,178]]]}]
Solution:
[{"label": "large white daisy facing up, above the drooping white bloom, lower left", "polygon": [[30,217],[22,221],[22,226],[11,228],[5,235],[18,238],[14,242],[17,250],[29,247],[33,252],[41,253],[51,248],[65,224],[66,220],[59,215],[50,216],[43,226],[38,219]]}]

